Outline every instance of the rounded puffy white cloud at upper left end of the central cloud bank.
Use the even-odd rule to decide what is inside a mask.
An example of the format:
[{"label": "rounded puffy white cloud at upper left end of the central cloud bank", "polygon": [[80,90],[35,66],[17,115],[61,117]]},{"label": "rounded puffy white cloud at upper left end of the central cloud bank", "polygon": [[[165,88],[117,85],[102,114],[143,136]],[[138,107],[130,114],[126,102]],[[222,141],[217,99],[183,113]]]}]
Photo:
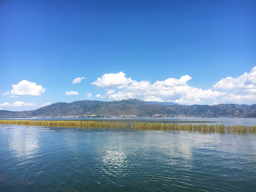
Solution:
[{"label": "rounded puffy white cloud at upper left end of the central cloud bank", "polygon": [[101,76],[101,78],[97,78],[96,81],[92,82],[93,85],[103,89],[113,89],[114,87],[122,89],[124,86],[130,83],[132,83],[131,78],[126,78],[122,71],[116,74],[104,74]]}]

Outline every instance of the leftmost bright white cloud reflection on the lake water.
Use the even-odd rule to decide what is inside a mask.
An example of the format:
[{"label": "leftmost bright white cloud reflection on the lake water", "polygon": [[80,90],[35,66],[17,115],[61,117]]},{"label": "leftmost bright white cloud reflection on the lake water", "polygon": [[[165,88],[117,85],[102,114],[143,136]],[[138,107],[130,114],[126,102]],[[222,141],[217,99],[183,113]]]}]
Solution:
[{"label": "leftmost bright white cloud reflection on the lake water", "polygon": [[38,151],[38,133],[33,129],[15,129],[9,138],[9,148],[23,160],[33,158]]}]

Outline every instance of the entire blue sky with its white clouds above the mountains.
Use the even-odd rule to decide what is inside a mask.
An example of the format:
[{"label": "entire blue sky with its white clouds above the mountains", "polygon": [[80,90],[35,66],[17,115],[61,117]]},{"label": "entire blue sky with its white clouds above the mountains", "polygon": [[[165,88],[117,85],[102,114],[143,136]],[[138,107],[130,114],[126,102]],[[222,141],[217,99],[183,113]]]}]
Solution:
[{"label": "entire blue sky with its white clouds above the mountains", "polygon": [[255,9],[244,0],[1,1],[0,109],[130,98],[251,105]]}]

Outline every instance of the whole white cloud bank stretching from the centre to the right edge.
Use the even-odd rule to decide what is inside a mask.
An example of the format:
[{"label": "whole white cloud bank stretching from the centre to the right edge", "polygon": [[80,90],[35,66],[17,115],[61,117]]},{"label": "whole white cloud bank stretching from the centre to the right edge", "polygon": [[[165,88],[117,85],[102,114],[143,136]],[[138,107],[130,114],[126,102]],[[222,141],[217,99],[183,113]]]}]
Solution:
[{"label": "whole white cloud bank stretching from the centre to the right edge", "polygon": [[134,81],[125,77],[121,71],[116,74],[104,74],[92,82],[107,92],[97,94],[97,98],[109,100],[141,99],[144,101],[171,101],[181,105],[217,103],[255,103],[256,101],[256,67],[250,73],[233,78],[222,78],[211,89],[188,85],[192,79],[189,75],[180,78],[167,78],[163,81]]}]

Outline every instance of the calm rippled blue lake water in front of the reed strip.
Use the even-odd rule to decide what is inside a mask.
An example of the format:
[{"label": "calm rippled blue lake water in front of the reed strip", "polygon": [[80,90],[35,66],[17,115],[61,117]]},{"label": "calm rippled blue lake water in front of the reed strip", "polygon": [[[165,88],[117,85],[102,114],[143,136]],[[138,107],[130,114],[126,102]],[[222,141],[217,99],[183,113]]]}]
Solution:
[{"label": "calm rippled blue lake water in front of the reed strip", "polygon": [[0,125],[0,191],[255,191],[256,134]]}]

